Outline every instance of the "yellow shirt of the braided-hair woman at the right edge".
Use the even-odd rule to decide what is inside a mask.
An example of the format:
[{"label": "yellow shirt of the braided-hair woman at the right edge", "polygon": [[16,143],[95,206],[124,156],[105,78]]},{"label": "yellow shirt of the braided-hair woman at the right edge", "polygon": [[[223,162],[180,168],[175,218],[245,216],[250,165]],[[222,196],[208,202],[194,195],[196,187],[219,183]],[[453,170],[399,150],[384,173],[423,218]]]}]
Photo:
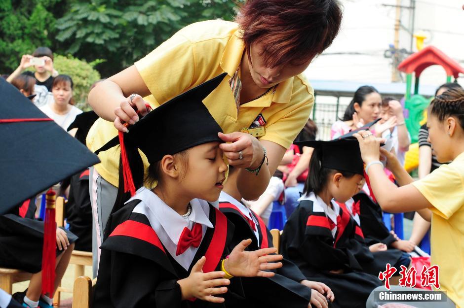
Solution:
[{"label": "yellow shirt of the braided-hair woman at the right edge", "polygon": [[464,153],[413,185],[433,205],[431,264],[440,267],[440,291],[464,308]]}]

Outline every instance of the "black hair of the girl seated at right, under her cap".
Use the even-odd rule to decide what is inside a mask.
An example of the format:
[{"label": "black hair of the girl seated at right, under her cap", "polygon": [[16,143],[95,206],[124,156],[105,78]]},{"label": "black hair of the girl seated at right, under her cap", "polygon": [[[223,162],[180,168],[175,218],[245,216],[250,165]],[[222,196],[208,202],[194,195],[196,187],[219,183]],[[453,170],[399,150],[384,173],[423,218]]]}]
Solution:
[{"label": "black hair of the girl seated at right, under her cap", "polygon": [[348,171],[339,171],[335,169],[325,168],[321,166],[321,150],[315,148],[312,152],[311,159],[309,160],[309,172],[308,178],[305,182],[305,187],[303,189],[304,195],[309,195],[312,191],[314,194],[319,194],[327,186],[330,174],[334,172],[340,172],[343,176],[351,178],[355,175],[354,172]]}]

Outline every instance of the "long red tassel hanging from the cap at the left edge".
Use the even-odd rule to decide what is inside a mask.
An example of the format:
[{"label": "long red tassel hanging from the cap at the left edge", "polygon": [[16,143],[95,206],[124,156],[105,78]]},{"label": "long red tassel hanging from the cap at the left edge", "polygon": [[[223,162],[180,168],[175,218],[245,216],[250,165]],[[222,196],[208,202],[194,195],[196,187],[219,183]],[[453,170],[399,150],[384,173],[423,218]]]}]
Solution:
[{"label": "long red tassel hanging from the cap at the left edge", "polygon": [[56,193],[50,188],[46,193],[45,224],[43,230],[42,252],[42,294],[53,297],[55,288],[56,262],[56,221],[55,199]]}]

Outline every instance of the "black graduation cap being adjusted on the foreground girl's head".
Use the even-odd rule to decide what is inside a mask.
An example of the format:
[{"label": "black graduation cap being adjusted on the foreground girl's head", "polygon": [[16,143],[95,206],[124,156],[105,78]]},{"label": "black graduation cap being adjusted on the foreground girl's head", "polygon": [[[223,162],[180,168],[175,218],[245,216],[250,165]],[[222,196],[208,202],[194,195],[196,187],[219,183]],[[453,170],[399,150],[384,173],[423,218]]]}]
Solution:
[{"label": "black graduation cap being adjusted on the foreground girl's head", "polygon": [[[209,113],[203,100],[221,83],[227,73],[210,79],[150,111],[123,134],[124,139],[136,145],[149,163],[161,160],[164,155],[176,154],[207,142],[219,141],[219,124]],[[220,102],[218,102],[220,103]],[[119,144],[113,138],[95,153]]]}]

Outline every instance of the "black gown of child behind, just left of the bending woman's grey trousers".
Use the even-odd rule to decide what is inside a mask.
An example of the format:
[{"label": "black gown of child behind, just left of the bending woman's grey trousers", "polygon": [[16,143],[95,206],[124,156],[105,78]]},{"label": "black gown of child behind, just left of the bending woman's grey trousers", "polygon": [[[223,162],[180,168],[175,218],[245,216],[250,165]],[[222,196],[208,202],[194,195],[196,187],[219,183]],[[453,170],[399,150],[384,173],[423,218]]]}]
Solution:
[{"label": "black gown of child behind, just left of the bending woman's grey trousers", "polygon": [[79,238],[74,249],[92,251],[92,206],[88,169],[71,177],[66,217],[69,230]]}]

